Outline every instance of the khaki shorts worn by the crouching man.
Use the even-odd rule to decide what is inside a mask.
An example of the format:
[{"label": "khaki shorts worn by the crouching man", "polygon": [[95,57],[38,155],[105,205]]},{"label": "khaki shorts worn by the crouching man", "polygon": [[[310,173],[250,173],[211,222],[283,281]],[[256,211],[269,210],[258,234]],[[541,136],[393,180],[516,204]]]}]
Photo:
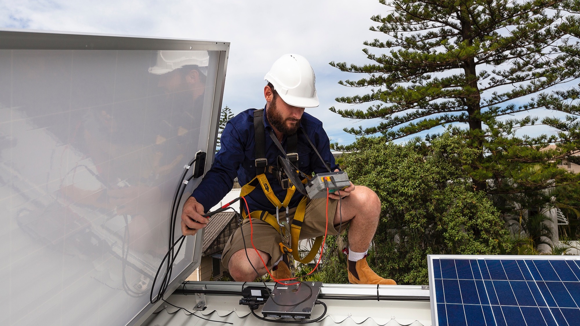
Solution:
[{"label": "khaki shorts worn by the crouching man", "polygon": [[[326,200],[327,198],[316,198],[307,202],[304,223],[300,230],[300,240],[324,236],[325,224],[327,223]],[[328,200],[328,236],[335,236],[338,234],[339,225],[333,225],[337,204],[338,200]],[[296,208],[289,209],[288,213],[290,215],[291,223],[295,211]],[[286,220],[285,210],[280,211],[280,220]],[[346,229],[346,225],[347,223],[342,223],[342,227],[340,227],[341,232]],[[252,227],[254,247],[258,250],[269,253],[270,260],[266,264],[268,269],[271,269],[272,263],[278,262],[282,256],[279,245],[279,243],[282,242],[282,237],[273,226],[263,220],[252,219]],[[242,231],[244,233],[244,238],[242,238]],[[235,230],[234,234],[232,234],[230,239],[227,241],[226,247],[223,249],[222,265],[226,267],[226,269],[228,269],[231,255],[244,249],[244,240],[245,247],[253,249],[250,234],[251,228],[249,219],[244,219],[242,226]],[[262,262],[260,262],[260,264],[262,264]]]}]

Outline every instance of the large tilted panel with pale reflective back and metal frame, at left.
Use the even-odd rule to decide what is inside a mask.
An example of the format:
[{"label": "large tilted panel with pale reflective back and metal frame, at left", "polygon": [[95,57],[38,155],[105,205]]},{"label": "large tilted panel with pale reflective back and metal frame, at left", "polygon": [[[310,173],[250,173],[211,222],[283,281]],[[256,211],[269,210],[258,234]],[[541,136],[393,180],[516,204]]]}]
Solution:
[{"label": "large tilted panel with pale reflective back and metal frame, at left", "polygon": [[[0,324],[138,324],[155,309],[184,165],[200,150],[202,171],[213,162],[228,53],[0,30]],[[169,293],[200,262],[201,237],[184,247]]]}]

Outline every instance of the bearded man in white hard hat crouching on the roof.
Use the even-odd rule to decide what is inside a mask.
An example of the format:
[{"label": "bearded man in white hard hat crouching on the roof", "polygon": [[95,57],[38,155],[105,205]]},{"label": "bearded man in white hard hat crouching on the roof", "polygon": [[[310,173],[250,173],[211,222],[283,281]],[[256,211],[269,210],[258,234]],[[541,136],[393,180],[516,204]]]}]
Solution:
[{"label": "bearded man in white hard hat crouching on the roof", "polygon": [[[276,139],[288,151],[288,139],[298,132],[298,161],[295,165],[310,175],[312,172],[327,172],[328,164],[333,171],[338,171],[330,152],[329,139],[322,129],[322,122],[304,112],[305,107],[317,107],[318,97],[314,85],[314,71],[308,61],[299,55],[284,55],[278,59],[266,74],[269,83],[264,87],[266,106],[263,115],[265,157],[269,164],[275,164],[277,157],[284,156],[278,149],[274,137],[269,137],[273,131]],[[222,147],[216,154],[215,163],[204,179],[185,202],[182,214],[182,233],[195,234],[210,221],[201,215],[217,204],[233,186],[237,176],[240,184],[250,182],[256,176],[256,137],[254,126],[254,110],[249,109],[236,115],[222,133]],[[302,127],[303,132],[299,131]],[[316,146],[324,162],[318,158],[311,148],[307,137]],[[263,170],[263,169],[262,169]],[[287,190],[271,174],[266,174],[269,186],[256,187],[245,196],[250,212],[266,211],[276,214],[276,207],[266,197],[265,191],[276,194],[279,201],[284,200]],[[289,215],[293,218],[296,207],[303,196],[298,192],[289,200]],[[352,183],[344,190],[329,194],[328,202],[328,235],[335,235],[339,230],[345,230],[349,224],[349,251],[347,251],[349,266],[349,281],[356,284],[396,284],[393,280],[379,277],[370,269],[365,259],[371,243],[380,214],[380,201],[374,191],[364,186],[354,186]],[[342,200],[339,201],[339,197]],[[323,236],[327,226],[327,198],[307,201],[305,218],[300,230],[300,239]],[[280,209],[280,220],[285,220],[286,209]],[[243,233],[243,237],[242,237]],[[251,234],[253,233],[253,245]],[[274,227],[264,220],[253,219],[252,226],[248,219],[235,231],[222,253],[222,263],[229,269],[236,281],[253,281],[256,277],[267,273],[268,269],[276,269],[277,278],[288,278],[287,262],[282,260],[279,246],[282,238]]]}]

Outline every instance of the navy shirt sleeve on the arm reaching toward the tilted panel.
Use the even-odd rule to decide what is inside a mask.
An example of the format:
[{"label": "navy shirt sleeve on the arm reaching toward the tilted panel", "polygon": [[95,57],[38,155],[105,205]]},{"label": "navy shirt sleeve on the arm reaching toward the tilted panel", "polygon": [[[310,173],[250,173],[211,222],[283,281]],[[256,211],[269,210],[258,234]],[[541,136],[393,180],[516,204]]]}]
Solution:
[{"label": "navy shirt sleeve on the arm reaching toward the tilted panel", "polygon": [[231,190],[234,179],[238,175],[238,167],[244,160],[245,140],[231,122],[226,124],[220,137],[221,148],[216,154],[211,169],[205,173],[204,179],[191,197],[204,205],[208,211]]}]

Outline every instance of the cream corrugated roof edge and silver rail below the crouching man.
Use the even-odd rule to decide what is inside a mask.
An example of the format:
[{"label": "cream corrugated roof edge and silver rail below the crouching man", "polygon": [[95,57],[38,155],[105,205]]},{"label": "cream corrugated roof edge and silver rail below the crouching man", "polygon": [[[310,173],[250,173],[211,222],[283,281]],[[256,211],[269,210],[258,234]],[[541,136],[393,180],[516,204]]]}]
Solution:
[{"label": "cream corrugated roof edge and silver rail below the crouching man", "polygon": [[[244,319],[242,323],[260,324],[257,318],[251,315],[248,306],[239,305],[239,295],[213,294],[219,291],[240,292],[243,282],[188,282],[185,288],[203,288],[207,308],[204,311],[193,310],[196,304],[195,295],[172,294],[167,300],[173,305],[184,307],[195,314],[201,314],[204,318],[216,321],[229,321]],[[248,285],[260,285],[261,283],[246,283]],[[273,288],[273,283],[267,283]],[[380,301],[376,299],[360,300],[367,298],[374,292],[379,293]],[[331,296],[348,296],[352,299],[324,299]],[[387,297],[398,298],[389,300]],[[405,296],[407,299],[405,299]],[[427,300],[425,300],[425,297]],[[317,325],[345,323],[376,325],[431,325],[431,313],[429,303],[429,290],[422,289],[417,285],[356,285],[356,284],[324,284],[321,289],[320,300],[328,305],[327,317],[317,322]],[[315,307],[313,316],[321,313]],[[200,325],[211,323],[200,318],[189,316],[185,311],[179,312],[176,307],[162,305],[160,309],[148,318],[144,325]],[[235,312],[235,314],[231,314]],[[177,314],[176,314],[177,313]],[[169,316],[171,315],[171,316]],[[178,317],[179,316],[179,317]],[[330,317],[330,318],[328,318]],[[184,321],[184,318],[191,319]],[[249,318],[249,319],[248,319]],[[372,323],[371,323],[372,320]],[[213,323],[212,323],[213,324]],[[237,323],[236,323],[237,324]],[[262,323],[263,324],[263,323]],[[274,324],[274,323],[267,323]]]}]

